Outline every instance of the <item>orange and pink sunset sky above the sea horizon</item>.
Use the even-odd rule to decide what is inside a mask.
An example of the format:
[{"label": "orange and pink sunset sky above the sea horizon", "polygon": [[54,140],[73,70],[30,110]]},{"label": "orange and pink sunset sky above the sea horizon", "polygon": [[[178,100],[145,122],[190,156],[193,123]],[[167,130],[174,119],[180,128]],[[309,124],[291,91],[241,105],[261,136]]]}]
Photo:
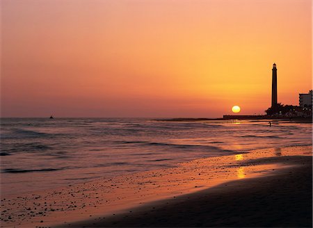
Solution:
[{"label": "orange and pink sunset sky above the sea horizon", "polygon": [[1,117],[222,117],[312,89],[311,0],[1,0]]}]

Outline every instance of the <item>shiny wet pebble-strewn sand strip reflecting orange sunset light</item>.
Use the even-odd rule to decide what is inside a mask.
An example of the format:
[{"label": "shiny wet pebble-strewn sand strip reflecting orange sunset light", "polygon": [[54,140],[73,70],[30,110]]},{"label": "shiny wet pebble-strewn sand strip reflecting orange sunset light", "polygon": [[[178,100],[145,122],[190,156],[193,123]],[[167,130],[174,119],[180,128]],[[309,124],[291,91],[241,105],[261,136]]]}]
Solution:
[{"label": "shiny wet pebble-strewn sand strip reflecting orange sunset light", "polygon": [[[291,163],[257,163],[257,158],[283,158],[295,153],[312,158],[312,145],[282,147],[280,150],[259,149],[247,154],[201,158],[179,164],[177,168],[128,174],[115,179],[98,179],[40,193],[15,196],[5,201],[1,199],[5,210],[1,226],[64,227],[70,222],[89,218],[95,220],[151,202],[199,192],[228,181],[268,176],[279,168],[290,167]],[[246,161],[254,163],[245,165]]]}]

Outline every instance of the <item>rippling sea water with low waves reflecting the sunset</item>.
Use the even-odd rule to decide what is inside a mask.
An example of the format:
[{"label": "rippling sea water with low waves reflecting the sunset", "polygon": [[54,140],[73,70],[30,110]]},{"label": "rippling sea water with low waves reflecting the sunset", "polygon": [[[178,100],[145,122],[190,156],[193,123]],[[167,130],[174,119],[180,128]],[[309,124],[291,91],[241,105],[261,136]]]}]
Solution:
[{"label": "rippling sea water with low waves reflecting the sunset", "polygon": [[11,195],[252,149],[312,145],[312,124],[268,120],[2,118],[1,194]]}]

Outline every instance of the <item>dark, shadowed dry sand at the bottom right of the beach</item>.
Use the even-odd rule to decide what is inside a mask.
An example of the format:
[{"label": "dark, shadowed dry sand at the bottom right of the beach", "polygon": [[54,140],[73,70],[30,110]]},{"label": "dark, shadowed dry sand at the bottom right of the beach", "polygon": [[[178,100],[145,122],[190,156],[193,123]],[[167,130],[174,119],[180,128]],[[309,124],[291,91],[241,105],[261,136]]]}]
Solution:
[{"label": "dark, shadowed dry sand at the bottom right of the beach", "polygon": [[289,162],[301,165],[70,227],[312,227],[312,158]]}]

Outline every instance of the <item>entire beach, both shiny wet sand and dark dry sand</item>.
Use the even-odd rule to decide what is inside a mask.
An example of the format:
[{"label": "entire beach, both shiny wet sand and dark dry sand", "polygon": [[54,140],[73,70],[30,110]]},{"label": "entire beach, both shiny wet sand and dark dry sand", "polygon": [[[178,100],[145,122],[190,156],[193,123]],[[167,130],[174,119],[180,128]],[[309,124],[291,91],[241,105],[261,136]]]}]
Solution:
[{"label": "entire beach, both shiny wet sand and dark dry sand", "polygon": [[11,195],[1,208],[2,227],[310,227],[312,145]]}]

